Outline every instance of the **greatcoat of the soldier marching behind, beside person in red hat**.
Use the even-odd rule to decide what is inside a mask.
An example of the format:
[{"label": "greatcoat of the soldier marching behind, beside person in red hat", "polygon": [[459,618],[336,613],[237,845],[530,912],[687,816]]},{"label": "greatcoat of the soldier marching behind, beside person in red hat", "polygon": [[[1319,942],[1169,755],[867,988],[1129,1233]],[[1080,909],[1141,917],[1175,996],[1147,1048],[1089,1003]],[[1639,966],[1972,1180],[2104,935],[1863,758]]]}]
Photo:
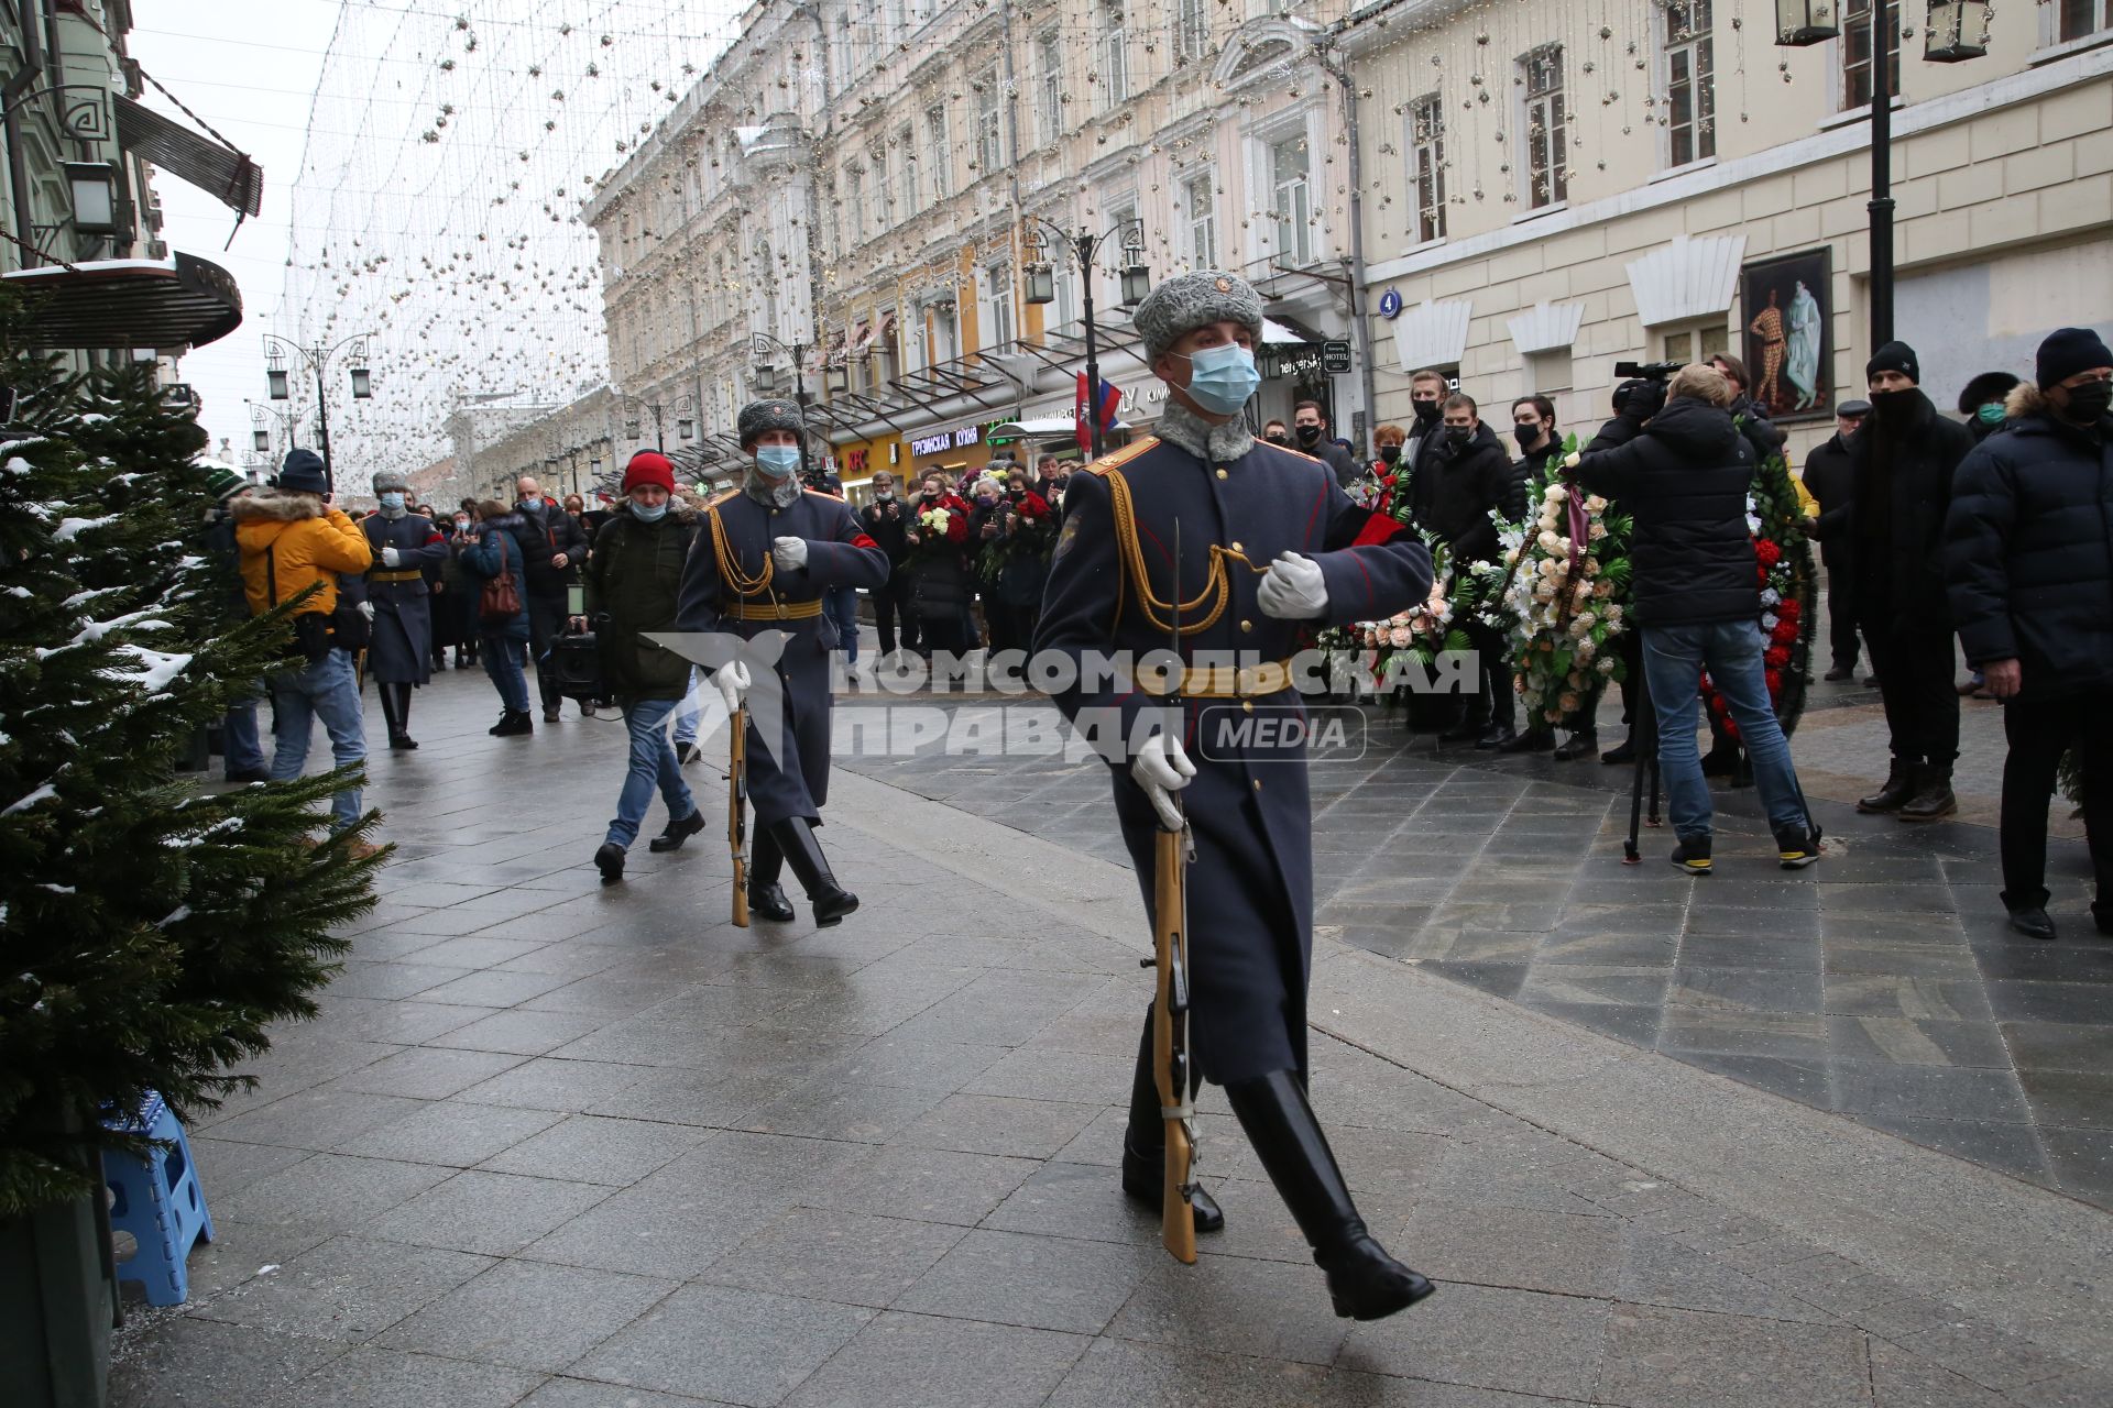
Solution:
[{"label": "greatcoat of the soldier marching behind, beside person in red hat", "polygon": [[[682,568],[682,591],[676,597],[678,631],[721,631],[742,640],[765,631],[786,633],[784,654],[778,657],[784,726],[780,737],[763,739],[750,713],[748,800],[756,808],[756,825],[786,817],[805,817],[814,823],[828,802],[828,667],[837,648],[837,623],[828,612],[801,621],[737,621],[727,614],[740,597],[718,574],[718,555],[712,547],[714,515],[725,526],[727,549],[742,576],[754,578],[763,572],[775,538],[807,540],[807,566],[799,572],[775,572],[771,578],[769,589],[784,606],[820,602],[830,587],[877,591],[887,581],[887,553],[860,528],[852,507],[835,494],[803,490],[790,507],[765,509],[735,490],[706,505],[689,564]],[[752,604],[769,606],[771,597],[763,595]]]}]

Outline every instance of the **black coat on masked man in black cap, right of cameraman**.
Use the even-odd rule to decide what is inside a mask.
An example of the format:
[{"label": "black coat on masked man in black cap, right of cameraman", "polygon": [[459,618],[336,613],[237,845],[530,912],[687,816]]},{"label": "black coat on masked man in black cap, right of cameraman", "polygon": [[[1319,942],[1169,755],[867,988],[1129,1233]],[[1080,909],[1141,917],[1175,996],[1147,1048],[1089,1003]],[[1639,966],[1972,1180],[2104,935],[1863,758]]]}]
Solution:
[{"label": "black coat on masked man in black cap, right of cameraman", "polygon": [[1859,602],[1883,602],[1910,629],[1950,631],[1944,519],[1974,437],[1921,391],[1900,395],[1914,399],[1902,429],[1872,418],[1849,437],[1851,496],[1819,515],[1819,540],[1851,545]]}]

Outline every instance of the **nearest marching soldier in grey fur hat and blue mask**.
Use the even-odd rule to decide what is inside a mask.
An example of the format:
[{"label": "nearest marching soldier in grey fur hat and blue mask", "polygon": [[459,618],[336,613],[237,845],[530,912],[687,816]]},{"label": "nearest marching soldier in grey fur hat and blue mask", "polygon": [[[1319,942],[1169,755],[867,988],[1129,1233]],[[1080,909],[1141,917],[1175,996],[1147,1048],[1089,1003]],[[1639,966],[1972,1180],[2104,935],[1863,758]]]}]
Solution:
[{"label": "nearest marching soldier in grey fur hat and blue mask", "polygon": [[[1217,270],[1183,274],[1154,289],[1133,321],[1152,374],[1166,382],[1166,412],[1156,439],[1071,475],[1035,646],[1071,657],[1080,671],[1056,705],[1111,764],[1116,817],[1147,910],[1154,836],[1183,827],[1173,794],[1188,802],[1192,1070],[1226,1087],[1327,1273],[1335,1313],[1378,1319],[1431,1294],[1431,1281],[1373,1241],[1306,1100],[1312,815],[1304,741],[1238,720],[1257,709],[1304,718],[1287,663],[1299,631],[1386,619],[1422,602],[1431,555],[1395,519],[1357,507],[1321,460],[1249,435],[1240,414],[1259,380],[1253,348],[1261,342],[1253,287]],[[1179,695],[1173,707],[1139,692],[1154,686],[1120,673],[1109,684],[1092,665],[1141,661],[1177,638],[1183,671],[1166,671],[1171,680],[1158,686]],[[1171,1115],[1154,1079],[1152,1034],[1147,1017],[1122,1186],[1164,1214]],[[1223,1226],[1207,1193],[1190,1184],[1188,1197],[1196,1231]]]}]

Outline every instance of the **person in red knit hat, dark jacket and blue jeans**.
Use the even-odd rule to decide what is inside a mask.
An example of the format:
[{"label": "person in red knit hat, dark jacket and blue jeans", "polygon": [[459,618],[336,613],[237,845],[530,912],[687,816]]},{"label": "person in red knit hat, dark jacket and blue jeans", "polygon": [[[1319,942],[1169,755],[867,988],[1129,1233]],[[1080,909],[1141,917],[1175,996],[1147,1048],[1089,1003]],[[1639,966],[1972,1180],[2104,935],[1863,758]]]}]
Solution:
[{"label": "person in red knit hat, dark jacket and blue jeans", "polygon": [[[689,661],[647,640],[651,631],[676,629],[676,591],[695,536],[695,511],[674,500],[674,464],[653,450],[634,454],[623,467],[623,502],[596,534],[585,574],[587,621],[602,650],[609,692],[632,735],[617,817],[594,853],[604,884],[623,878],[623,853],[638,840],[655,787],[668,802],[668,827],[653,838],[651,851],[680,851],[704,830],[668,741],[668,716],[689,692]],[[587,621],[575,616],[573,625]]]}]

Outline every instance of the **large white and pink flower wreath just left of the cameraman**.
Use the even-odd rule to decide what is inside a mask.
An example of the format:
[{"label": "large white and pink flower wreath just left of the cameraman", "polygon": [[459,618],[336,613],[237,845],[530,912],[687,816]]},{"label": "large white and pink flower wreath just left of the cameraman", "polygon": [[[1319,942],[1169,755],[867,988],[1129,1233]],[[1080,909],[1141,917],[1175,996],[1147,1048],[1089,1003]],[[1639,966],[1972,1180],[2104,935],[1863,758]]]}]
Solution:
[{"label": "large white and pink flower wreath just left of the cameraman", "polygon": [[[1572,452],[1576,435],[1564,439],[1564,456]],[[1625,673],[1610,642],[1629,629],[1629,519],[1562,479],[1536,492],[1534,519],[1526,528],[1500,526],[1502,559],[1477,572],[1485,583],[1483,621],[1511,633],[1526,718],[1553,726]]]}]

